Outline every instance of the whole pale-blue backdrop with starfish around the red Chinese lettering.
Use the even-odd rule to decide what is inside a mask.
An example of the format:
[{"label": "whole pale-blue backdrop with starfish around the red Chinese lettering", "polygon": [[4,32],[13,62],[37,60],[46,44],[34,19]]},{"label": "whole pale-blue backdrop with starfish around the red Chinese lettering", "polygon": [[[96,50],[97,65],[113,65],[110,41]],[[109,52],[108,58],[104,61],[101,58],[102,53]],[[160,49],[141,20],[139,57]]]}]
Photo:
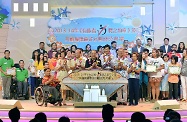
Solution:
[{"label": "whole pale-blue backdrop with starfish around the red Chinese lettering", "polygon": [[[97,49],[97,46],[104,46],[112,41],[116,41],[119,47],[124,40],[134,46],[137,38],[144,44],[144,40],[153,34],[152,15],[149,13],[141,16],[137,11],[140,7],[52,8],[47,44],[56,42],[59,48],[74,44],[83,49],[90,44],[92,49]],[[146,11],[151,9],[150,5],[146,5]]]}]

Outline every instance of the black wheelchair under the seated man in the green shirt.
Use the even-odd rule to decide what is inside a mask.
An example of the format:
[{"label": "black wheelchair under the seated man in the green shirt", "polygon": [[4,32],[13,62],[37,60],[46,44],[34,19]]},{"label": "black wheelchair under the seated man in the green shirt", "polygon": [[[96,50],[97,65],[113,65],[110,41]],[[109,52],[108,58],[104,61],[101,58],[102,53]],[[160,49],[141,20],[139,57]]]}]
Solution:
[{"label": "black wheelchair under the seated man in the green shirt", "polygon": [[[25,99],[25,100],[29,100],[30,94],[29,94],[29,84],[27,86],[27,92],[26,95],[24,96],[23,94],[21,96],[19,96],[18,94],[18,84],[17,84],[17,80],[12,79],[11,85],[10,85],[10,99],[14,98],[15,100],[17,99]],[[23,89],[22,89],[23,90]]]}]

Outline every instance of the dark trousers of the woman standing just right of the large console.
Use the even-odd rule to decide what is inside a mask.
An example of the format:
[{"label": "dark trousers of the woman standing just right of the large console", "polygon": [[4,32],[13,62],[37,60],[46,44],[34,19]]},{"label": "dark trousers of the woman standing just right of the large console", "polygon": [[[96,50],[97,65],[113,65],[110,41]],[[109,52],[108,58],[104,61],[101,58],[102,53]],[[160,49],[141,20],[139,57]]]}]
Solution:
[{"label": "dark trousers of the woman standing just right of the large console", "polygon": [[[129,85],[129,104],[137,105],[139,99],[139,79],[129,78],[128,85]],[[133,100],[135,101],[135,103],[133,103]]]}]

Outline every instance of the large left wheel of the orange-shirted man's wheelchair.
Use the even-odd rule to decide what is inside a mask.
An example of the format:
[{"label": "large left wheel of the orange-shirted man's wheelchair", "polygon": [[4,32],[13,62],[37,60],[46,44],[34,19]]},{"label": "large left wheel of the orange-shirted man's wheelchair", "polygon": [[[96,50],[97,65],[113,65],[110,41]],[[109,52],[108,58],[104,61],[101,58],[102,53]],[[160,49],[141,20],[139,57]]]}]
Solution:
[{"label": "large left wheel of the orange-shirted man's wheelchair", "polygon": [[44,92],[42,90],[42,87],[38,87],[35,90],[35,100],[36,100],[36,104],[38,104],[38,106],[42,106],[44,104]]}]

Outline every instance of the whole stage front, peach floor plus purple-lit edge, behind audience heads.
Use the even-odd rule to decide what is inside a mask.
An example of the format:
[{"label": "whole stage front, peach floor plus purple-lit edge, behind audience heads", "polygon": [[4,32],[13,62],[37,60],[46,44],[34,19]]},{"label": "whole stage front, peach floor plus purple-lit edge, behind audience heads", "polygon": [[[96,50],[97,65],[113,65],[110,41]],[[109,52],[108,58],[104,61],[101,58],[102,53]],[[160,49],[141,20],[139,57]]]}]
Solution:
[{"label": "whole stage front, peach floor plus purple-lit edge, behind audience heads", "polygon": [[[48,116],[48,122],[57,122],[61,116],[68,116],[71,122],[102,122],[101,111],[102,108],[74,108],[73,102],[68,101],[66,106],[53,106],[48,104],[48,107],[37,106],[35,100],[20,100],[24,109],[21,111],[21,121],[26,122],[33,118],[37,112],[45,112]],[[153,120],[153,122],[162,122],[164,115],[163,110],[153,110],[154,103],[140,103],[138,106],[123,106],[119,105],[114,108],[114,120],[115,122],[124,122],[130,118],[131,114],[135,111],[144,112],[147,118]],[[180,109],[177,110],[184,122],[187,122],[187,102],[180,103]],[[0,110],[0,118],[4,122],[9,122],[8,110]]]}]

